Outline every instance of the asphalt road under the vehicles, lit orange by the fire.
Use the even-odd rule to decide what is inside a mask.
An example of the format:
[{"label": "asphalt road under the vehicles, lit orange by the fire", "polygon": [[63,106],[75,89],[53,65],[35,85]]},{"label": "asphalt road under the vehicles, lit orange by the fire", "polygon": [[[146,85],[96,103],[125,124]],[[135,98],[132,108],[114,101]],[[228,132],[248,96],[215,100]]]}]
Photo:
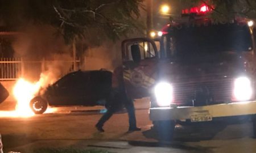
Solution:
[{"label": "asphalt road under the vehicles, lit orange by the fire", "polygon": [[[127,113],[115,114],[98,133],[94,125],[98,111],[65,111],[29,118],[0,117],[5,151],[28,152],[39,147],[102,148],[113,152],[256,152],[250,122],[177,126],[172,142],[159,143],[151,130],[148,103],[136,102],[138,126],[142,131],[127,133]],[[0,105],[1,108],[1,105]],[[97,108],[98,109],[98,108]],[[97,110],[96,109],[96,110]]]}]

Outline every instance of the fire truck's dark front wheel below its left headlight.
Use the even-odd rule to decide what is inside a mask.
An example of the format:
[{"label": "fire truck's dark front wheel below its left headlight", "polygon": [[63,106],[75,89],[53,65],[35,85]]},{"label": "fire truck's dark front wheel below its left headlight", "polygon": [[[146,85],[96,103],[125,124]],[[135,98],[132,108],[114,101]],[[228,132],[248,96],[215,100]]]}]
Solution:
[{"label": "fire truck's dark front wheel below its left headlight", "polygon": [[159,141],[172,141],[174,137],[175,121],[154,121],[154,129],[158,133]]}]

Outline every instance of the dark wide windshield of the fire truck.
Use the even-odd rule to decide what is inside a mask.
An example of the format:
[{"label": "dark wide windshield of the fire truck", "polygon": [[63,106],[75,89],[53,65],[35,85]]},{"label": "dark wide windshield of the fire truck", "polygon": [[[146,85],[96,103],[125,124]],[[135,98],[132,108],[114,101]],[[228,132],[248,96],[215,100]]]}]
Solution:
[{"label": "dark wide windshield of the fire truck", "polygon": [[[253,49],[247,25],[217,24],[172,28],[164,38],[166,56],[186,58],[222,52],[242,52]],[[169,52],[169,53],[168,53]]]}]

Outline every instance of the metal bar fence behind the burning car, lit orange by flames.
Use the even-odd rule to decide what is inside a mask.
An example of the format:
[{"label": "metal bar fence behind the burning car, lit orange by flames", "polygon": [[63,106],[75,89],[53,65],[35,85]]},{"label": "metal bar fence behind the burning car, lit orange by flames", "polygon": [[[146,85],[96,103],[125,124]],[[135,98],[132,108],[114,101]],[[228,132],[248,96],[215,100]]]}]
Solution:
[{"label": "metal bar fence behind the burning car, lit orange by flames", "polygon": [[[80,61],[24,61],[22,58],[0,58],[0,81],[16,80],[22,76],[40,76],[43,71],[47,71],[49,65],[59,63],[65,65],[65,70],[61,71],[65,75],[80,68]],[[58,69],[56,66],[55,69]]]}]

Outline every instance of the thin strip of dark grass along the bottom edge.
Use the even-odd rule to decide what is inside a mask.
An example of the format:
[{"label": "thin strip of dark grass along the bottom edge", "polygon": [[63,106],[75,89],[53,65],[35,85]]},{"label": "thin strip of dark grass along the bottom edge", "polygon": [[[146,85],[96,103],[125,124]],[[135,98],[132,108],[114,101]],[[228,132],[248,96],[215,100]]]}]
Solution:
[{"label": "thin strip of dark grass along the bottom edge", "polygon": [[79,150],[74,148],[39,148],[34,153],[112,153],[106,150],[88,149]]}]

